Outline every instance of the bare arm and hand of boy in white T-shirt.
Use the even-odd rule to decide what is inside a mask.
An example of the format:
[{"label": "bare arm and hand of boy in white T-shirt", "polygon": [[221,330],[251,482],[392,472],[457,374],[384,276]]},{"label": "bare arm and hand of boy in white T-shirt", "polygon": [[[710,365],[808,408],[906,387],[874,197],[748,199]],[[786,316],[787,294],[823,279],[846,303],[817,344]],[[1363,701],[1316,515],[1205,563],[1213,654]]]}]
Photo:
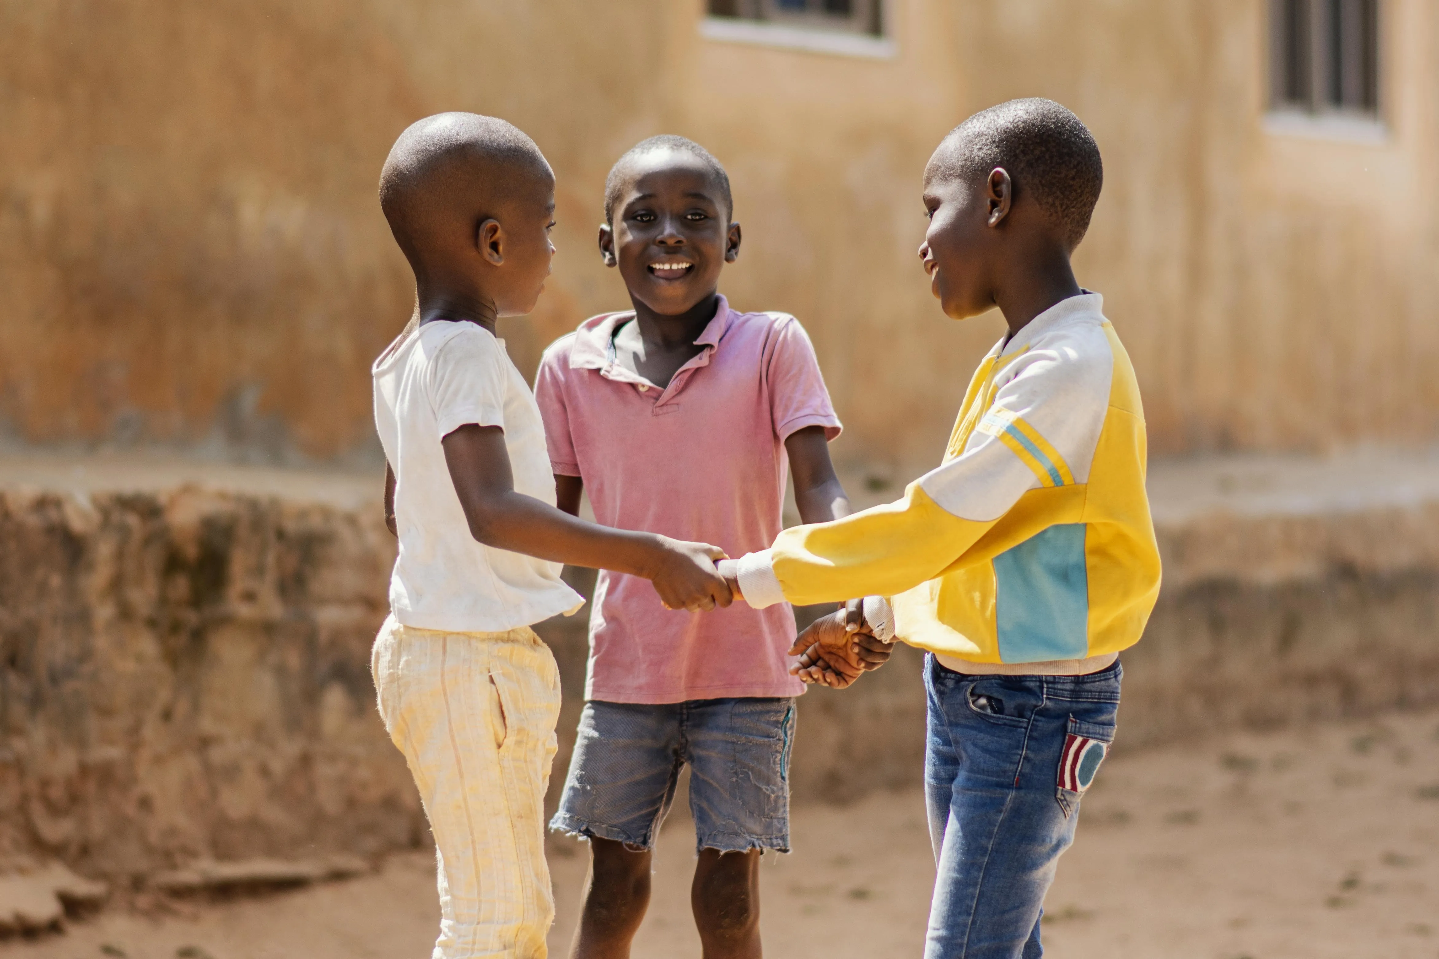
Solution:
[{"label": "bare arm and hand of boy in white T-shirt", "polygon": [[643,577],[672,608],[730,605],[730,589],[714,569],[724,555],[718,548],[597,526],[517,493],[499,427],[471,423],[440,443],[469,532],[486,546]]}]

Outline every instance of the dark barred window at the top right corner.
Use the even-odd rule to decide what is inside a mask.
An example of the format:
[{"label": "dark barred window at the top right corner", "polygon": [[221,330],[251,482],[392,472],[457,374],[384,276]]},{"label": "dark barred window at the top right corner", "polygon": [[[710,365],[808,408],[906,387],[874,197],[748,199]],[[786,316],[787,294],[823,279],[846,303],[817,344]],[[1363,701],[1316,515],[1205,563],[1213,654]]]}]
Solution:
[{"label": "dark barred window at the top right corner", "polygon": [[1380,0],[1269,0],[1272,104],[1379,115]]}]

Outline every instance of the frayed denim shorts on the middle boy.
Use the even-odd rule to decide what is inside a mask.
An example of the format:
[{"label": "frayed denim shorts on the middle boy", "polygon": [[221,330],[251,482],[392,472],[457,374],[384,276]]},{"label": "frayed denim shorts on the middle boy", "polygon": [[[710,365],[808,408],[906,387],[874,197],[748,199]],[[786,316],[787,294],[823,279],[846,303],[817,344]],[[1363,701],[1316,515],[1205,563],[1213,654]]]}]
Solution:
[{"label": "frayed denim shorts on the middle boy", "polygon": [[689,763],[695,850],[790,851],[793,699],[590,700],[550,828],[653,850]]}]

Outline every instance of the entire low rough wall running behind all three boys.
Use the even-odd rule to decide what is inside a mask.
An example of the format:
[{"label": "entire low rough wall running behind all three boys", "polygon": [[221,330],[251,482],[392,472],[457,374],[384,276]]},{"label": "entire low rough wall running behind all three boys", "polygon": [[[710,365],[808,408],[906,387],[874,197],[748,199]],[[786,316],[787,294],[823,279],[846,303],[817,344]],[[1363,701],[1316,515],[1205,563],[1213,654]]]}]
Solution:
[{"label": "entire low rough wall running behind all three boys", "polygon": [[[1432,466],[1410,469],[1439,476]],[[1187,510],[1166,483],[1151,474],[1166,584],[1124,656],[1121,748],[1439,702],[1433,480],[1407,499],[1374,482],[1347,506]],[[0,483],[0,808],[14,811],[0,817],[0,866],[60,858],[144,877],[427,841],[368,676],[393,558],[373,497],[266,492],[246,476],[229,492],[62,486]],[[564,682],[553,805],[584,621],[541,633]],[[803,697],[797,799],[918,781],[920,661],[901,647],[853,690]]]}]

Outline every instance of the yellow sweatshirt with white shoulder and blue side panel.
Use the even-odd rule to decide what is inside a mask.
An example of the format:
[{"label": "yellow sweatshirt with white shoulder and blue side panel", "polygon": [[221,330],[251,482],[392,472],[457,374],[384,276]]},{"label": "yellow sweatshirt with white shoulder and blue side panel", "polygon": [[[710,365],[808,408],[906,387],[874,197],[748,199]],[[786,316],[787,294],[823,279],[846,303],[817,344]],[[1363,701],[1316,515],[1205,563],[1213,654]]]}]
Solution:
[{"label": "yellow sweatshirt with white shoulder and blue side panel", "polygon": [[794,526],[738,562],[753,607],[881,595],[894,634],[973,663],[1138,641],[1160,588],[1144,410],[1104,300],[1049,308],[984,358],[943,464],[904,499]]}]

